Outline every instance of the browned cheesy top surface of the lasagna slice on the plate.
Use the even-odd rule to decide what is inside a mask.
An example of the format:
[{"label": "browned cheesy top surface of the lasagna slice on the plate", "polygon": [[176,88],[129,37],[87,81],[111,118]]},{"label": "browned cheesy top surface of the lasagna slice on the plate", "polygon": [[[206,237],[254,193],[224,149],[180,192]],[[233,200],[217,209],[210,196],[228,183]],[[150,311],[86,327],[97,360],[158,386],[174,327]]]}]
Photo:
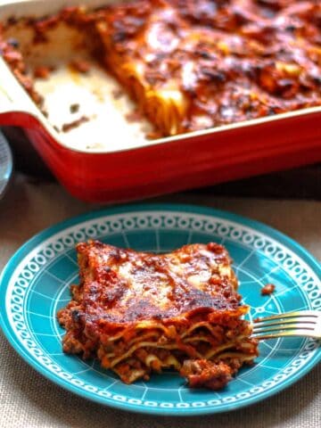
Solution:
[{"label": "browned cheesy top surface of the lasagna slice on the plate", "polygon": [[243,310],[230,259],[218,244],[155,255],[90,242],[78,244],[78,254],[86,266],[86,310],[108,323],[186,317],[195,309],[235,315]]}]

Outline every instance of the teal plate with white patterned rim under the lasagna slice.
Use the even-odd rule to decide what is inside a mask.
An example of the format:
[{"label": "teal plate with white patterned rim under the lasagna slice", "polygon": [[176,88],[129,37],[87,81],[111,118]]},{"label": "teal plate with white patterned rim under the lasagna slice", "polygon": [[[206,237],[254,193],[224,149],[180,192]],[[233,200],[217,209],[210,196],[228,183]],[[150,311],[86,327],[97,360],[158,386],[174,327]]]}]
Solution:
[{"label": "teal plate with white patterned rim under the lasagna slice", "polygon": [[[56,312],[78,282],[75,243],[99,239],[140,251],[171,251],[185,243],[226,245],[250,318],[292,309],[321,309],[319,263],[276,230],[231,213],[185,205],[132,205],[72,218],[45,230],[15,253],[0,278],[0,320],[8,340],[37,371],[69,391],[104,405],[160,415],[202,415],[244,407],[283,390],[321,359],[316,341],[261,342],[254,366],[222,391],[189,390],[174,372],[149,382],[121,383],[96,361],[62,353]],[[264,284],[276,284],[261,296]]]}]

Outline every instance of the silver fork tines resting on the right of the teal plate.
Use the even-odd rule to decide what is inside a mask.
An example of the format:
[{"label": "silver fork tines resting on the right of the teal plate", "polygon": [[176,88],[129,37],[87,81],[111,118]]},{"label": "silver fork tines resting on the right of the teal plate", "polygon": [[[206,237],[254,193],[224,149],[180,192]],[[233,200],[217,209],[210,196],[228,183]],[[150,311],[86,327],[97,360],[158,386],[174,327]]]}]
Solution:
[{"label": "silver fork tines resting on the right of the teal plate", "polygon": [[258,340],[303,336],[321,339],[321,311],[297,310],[253,321],[252,337]]}]

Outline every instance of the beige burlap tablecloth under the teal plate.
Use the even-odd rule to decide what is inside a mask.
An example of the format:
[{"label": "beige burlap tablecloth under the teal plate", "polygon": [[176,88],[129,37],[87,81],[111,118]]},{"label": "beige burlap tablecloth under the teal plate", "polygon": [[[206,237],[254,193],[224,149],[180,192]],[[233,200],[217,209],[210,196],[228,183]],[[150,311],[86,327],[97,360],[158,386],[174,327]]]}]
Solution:
[{"label": "beige burlap tablecloth under the teal plate", "polygon": [[[218,198],[197,191],[157,201],[233,210],[275,226],[321,259],[321,202]],[[57,221],[96,208],[75,201],[60,185],[15,177],[0,202],[0,270],[30,236]],[[235,412],[191,418],[152,417],[99,406],[62,390],[22,361],[0,333],[1,427],[316,428],[321,426],[320,421],[321,365],[287,390]]]}]

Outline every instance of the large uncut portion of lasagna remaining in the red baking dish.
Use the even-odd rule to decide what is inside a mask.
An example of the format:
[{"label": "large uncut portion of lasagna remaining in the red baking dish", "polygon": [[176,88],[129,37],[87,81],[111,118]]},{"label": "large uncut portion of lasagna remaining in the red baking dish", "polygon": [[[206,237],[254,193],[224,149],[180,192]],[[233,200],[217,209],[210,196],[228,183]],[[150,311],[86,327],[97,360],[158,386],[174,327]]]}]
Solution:
[{"label": "large uncut portion of lasagna remaining in the red baking dish", "polygon": [[[27,23],[45,43],[62,21],[84,34],[155,136],[321,105],[319,0],[133,0]],[[19,48],[0,49],[39,101]]]}]

